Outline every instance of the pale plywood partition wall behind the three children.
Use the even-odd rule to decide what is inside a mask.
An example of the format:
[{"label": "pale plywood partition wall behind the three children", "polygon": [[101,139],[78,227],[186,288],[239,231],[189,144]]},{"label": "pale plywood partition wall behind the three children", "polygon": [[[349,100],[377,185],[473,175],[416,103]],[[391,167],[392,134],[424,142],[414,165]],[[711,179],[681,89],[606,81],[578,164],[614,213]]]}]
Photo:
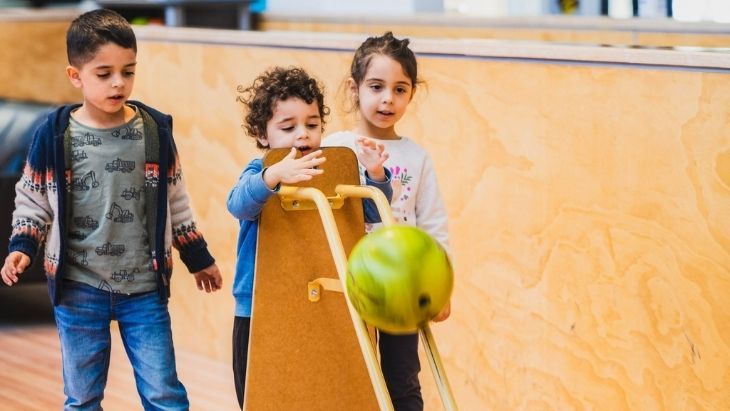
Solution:
[{"label": "pale plywood partition wall behind the three children", "polygon": [[[238,224],[230,187],[259,155],[236,86],[273,65],[322,79],[328,132],[349,53],[142,42],[135,97],[175,116],[200,226],[224,272],[178,262],[177,344],[230,359]],[[457,275],[433,327],[464,410],[727,409],[728,74],[422,58],[400,131],[446,199]],[[459,75],[455,75],[458,69]],[[337,97],[339,98],[339,96]],[[427,409],[438,409],[428,365]]]}]

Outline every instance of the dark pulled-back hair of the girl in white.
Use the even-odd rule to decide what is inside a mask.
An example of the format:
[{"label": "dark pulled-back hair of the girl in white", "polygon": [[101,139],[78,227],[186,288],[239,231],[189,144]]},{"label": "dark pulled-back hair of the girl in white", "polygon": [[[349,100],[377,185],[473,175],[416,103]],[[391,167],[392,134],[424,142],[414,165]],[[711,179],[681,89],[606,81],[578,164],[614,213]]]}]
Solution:
[{"label": "dark pulled-back hair of the girl in white", "polygon": [[415,91],[416,85],[420,83],[418,63],[413,51],[408,48],[409,43],[408,39],[398,40],[393,37],[393,33],[390,31],[382,36],[368,37],[355,51],[355,56],[352,58],[352,64],[350,65],[350,76],[359,86],[365,79],[370,60],[374,55],[382,54],[400,63],[403,71],[411,79],[411,85],[413,91]]}]

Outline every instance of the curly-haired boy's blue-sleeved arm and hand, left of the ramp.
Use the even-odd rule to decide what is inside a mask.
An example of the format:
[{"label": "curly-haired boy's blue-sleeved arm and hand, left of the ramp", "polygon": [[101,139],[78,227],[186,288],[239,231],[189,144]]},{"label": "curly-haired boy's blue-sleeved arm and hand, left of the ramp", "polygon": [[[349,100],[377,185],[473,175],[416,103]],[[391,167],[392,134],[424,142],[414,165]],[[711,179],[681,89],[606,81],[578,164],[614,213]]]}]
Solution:
[{"label": "curly-haired boy's blue-sleeved arm and hand, left of the ramp", "polygon": [[322,170],[314,168],[324,163],[321,154],[316,151],[296,159],[296,149],[292,148],[286,157],[266,169],[261,160],[252,161],[228,194],[228,211],[239,220],[256,220],[266,200],[278,191],[281,183],[293,184],[322,174]]}]

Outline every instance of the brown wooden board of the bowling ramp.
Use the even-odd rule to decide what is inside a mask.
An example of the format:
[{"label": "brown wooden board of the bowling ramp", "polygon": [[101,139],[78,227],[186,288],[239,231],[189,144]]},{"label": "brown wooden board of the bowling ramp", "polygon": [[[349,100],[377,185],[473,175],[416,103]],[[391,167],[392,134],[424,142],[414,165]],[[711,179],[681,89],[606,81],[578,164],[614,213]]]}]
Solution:
[{"label": "brown wooden board of the bowling ramp", "polygon": [[[324,174],[298,186],[330,197],[337,184],[360,184],[352,150],[323,151]],[[288,152],[272,150],[264,164]],[[333,212],[349,253],[365,233],[362,202],[348,200]],[[257,254],[245,408],[378,409],[343,294],[307,298],[309,281],[339,278],[318,211],[285,211],[273,196],[262,212]]]}]

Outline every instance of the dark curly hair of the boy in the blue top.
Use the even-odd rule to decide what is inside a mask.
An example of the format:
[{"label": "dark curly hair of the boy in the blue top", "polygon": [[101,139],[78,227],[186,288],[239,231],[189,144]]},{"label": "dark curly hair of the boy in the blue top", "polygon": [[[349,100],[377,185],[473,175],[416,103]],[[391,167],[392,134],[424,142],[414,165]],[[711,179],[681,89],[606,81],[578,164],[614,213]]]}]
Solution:
[{"label": "dark curly hair of the boy in the blue top", "polygon": [[[319,116],[324,130],[325,116],[330,113],[324,104],[324,88],[306,71],[298,67],[274,67],[256,77],[253,84],[244,88],[238,86],[241,93],[237,100],[246,106],[243,128],[246,133],[256,139],[266,139],[266,123],[274,116],[274,108],[279,101],[290,97],[302,99],[305,103],[317,102]],[[265,148],[256,140],[258,148]]]}]

